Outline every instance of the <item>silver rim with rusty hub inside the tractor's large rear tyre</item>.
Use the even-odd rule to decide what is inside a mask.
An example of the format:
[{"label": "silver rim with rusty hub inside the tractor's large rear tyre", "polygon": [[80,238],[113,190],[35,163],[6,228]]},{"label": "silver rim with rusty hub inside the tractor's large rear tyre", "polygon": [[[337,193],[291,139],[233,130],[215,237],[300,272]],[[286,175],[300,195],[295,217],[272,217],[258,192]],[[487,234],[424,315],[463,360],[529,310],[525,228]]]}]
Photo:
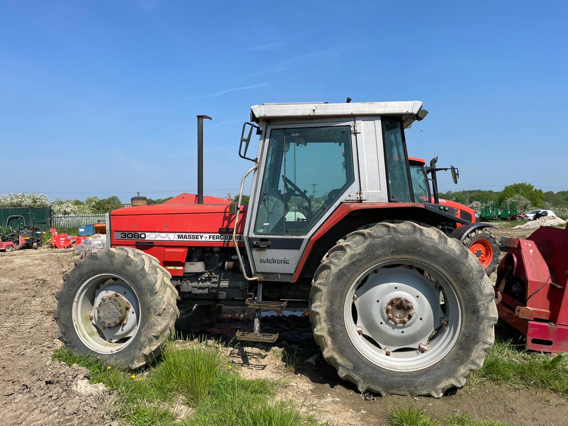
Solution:
[{"label": "silver rim with rusty hub inside the tractor's large rear tyre", "polygon": [[449,280],[431,265],[403,258],[359,275],[343,316],[357,351],[391,371],[431,367],[453,349],[461,329],[460,302]]}]

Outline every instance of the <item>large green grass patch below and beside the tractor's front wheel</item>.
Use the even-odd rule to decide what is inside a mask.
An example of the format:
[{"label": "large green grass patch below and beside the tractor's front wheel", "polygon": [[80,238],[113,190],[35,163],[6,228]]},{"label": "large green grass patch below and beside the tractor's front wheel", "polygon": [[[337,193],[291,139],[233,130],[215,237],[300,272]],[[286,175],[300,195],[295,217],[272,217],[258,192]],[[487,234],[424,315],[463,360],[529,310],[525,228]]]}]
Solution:
[{"label": "large green grass patch below and beside the tractor's front wheel", "polygon": [[[107,389],[118,392],[121,403],[112,407],[113,419],[124,419],[136,426],[315,424],[292,403],[274,399],[281,382],[241,377],[216,342],[180,345],[170,341],[159,362],[134,373],[113,366],[109,369],[97,360],[66,349],[56,350],[53,359],[86,367],[92,383],[104,383]],[[193,408],[189,419],[176,421],[171,408],[179,401]]]}]

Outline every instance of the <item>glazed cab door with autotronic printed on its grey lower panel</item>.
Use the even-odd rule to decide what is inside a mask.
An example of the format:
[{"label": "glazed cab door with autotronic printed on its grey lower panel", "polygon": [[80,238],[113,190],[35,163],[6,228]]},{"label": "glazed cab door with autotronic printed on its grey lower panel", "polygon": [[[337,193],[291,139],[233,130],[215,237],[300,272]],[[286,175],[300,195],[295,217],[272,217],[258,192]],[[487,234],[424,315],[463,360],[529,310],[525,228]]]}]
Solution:
[{"label": "glazed cab door with autotronic printed on its grey lower panel", "polygon": [[266,127],[260,173],[251,194],[254,207],[247,221],[254,272],[291,281],[312,233],[341,201],[359,191],[353,124]]}]

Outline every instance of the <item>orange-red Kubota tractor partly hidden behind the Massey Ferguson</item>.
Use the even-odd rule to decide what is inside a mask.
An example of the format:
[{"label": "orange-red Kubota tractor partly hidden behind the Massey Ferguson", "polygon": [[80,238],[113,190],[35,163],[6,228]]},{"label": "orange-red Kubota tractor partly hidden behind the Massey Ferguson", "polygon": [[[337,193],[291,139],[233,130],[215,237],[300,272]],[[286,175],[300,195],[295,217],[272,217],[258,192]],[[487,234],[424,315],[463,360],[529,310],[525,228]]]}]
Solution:
[{"label": "orange-red Kubota tractor partly hidden behind the Massey Ferguson", "polygon": [[[430,201],[440,204],[440,206],[444,206],[444,208],[453,208],[458,218],[468,222],[467,225],[460,222],[441,223],[439,228],[450,237],[457,238],[465,247],[469,248],[471,252],[475,254],[475,257],[479,259],[487,275],[491,275],[499,264],[500,245],[495,235],[491,232],[491,228],[495,229],[495,227],[488,223],[480,223],[479,214],[473,210],[473,208],[438,197],[436,172],[440,170],[452,170],[454,183],[457,183],[460,174],[454,166],[450,168],[437,168],[437,159],[437,157],[432,158],[430,166],[426,167],[426,162],[422,158],[408,158],[410,162],[412,186],[414,187],[414,197],[423,202]],[[432,177],[428,178],[428,174]],[[428,181],[432,181],[432,190]]]}]

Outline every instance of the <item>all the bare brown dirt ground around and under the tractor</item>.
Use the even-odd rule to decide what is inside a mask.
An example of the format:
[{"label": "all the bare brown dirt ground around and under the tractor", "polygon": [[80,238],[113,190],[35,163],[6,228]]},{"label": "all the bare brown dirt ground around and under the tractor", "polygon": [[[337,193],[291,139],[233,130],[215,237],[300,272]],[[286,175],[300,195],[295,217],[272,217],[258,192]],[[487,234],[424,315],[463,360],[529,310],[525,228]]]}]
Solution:
[{"label": "all the bare brown dirt ground around and under the tractor", "polygon": [[[499,237],[526,237],[527,233],[495,231]],[[62,274],[73,266],[71,254],[51,249],[0,252],[1,425],[109,424],[105,418],[110,396],[87,384],[87,370],[50,360],[53,350],[62,346],[52,313]],[[466,412],[477,419],[515,425],[568,424],[565,400],[550,392],[486,384],[475,389],[466,386],[440,399],[361,395],[321,359],[306,316],[263,318],[263,331],[280,333],[274,345],[235,344],[237,329],[252,328],[251,320],[235,316],[225,311],[206,335],[229,346],[231,362],[241,366],[241,374],[284,378],[290,386],[283,387],[278,398],[293,399],[296,406],[329,425],[382,425],[389,408],[408,405],[439,417]],[[299,351],[302,361],[316,357],[299,362],[295,370],[287,369],[281,361],[282,350]]]}]

